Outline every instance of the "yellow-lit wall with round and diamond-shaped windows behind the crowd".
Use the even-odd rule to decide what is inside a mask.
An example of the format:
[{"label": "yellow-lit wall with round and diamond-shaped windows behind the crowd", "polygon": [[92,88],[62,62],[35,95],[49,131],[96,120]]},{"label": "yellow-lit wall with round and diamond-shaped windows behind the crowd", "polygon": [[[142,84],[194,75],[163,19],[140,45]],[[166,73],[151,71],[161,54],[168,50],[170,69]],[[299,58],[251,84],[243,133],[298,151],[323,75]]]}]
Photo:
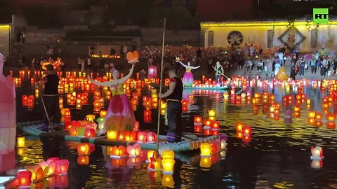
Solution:
[{"label": "yellow-lit wall with round and diamond-shaped windows behind the crowd", "polygon": [[337,20],[315,25],[305,20],[258,22],[201,22],[201,46],[232,45],[245,43],[273,49],[286,45],[289,49],[299,44],[300,52],[315,52],[324,48],[337,51]]}]

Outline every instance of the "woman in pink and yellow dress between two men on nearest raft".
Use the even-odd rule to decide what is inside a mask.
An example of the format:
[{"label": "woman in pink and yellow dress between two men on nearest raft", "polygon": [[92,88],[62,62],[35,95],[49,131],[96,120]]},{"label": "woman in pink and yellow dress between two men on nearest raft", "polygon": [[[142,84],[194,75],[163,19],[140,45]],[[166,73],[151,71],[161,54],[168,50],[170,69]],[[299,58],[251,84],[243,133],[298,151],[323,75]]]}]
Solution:
[{"label": "woman in pink and yellow dress between two men on nearest raft", "polygon": [[104,132],[107,130],[133,130],[136,125],[135,114],[131,107],[128,97],[124,94],[124,83],[131,78],[133,69],[138,60],[133,60],[131,70],[124,78],[119,79],[119,71],[111,69],[114,80],[106,82],[98,82],[88,76],[91,83],[95,85],[110,87],[112,97],[110,99],[107,116],[105,117]]}]

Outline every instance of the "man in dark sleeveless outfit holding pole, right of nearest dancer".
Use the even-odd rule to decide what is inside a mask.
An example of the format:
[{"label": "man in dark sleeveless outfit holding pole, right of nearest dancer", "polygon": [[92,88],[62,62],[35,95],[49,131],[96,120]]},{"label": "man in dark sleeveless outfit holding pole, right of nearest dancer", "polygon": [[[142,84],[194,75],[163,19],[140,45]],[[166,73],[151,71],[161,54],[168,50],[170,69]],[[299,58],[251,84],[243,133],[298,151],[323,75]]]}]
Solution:
[{"label": "man in dark sleeveless outfit holding pole, right of nearest dancer", "polygon": [[169,90],[164,94],[159,93],[159,98],[166,98],[167,102],[167,120],[169,123],[169,130],[167,131],[168,142],[180,142],[183,135],[183,128],[181,125],[181,113],[183,99],[183,82],[177,76],[176,69],[169,69]]}]

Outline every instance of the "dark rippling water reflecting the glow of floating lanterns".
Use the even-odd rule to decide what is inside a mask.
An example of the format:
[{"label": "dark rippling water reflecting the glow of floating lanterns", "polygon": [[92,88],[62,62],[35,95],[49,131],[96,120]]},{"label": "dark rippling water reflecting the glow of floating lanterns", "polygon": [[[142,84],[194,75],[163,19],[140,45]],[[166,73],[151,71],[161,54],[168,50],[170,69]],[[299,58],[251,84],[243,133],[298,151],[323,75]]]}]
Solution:
[{"label": "dark rippling water reflecting the glow of floating lanterns", "polygon": [[[17,88],[18,122],[41,119],[38,99],[35,99],[33,110],[21,106],[22,94],[34,94],[28,83],[23,86]],[[263,91],[254,87],[252,94]],[[267,91],[275,94],[275,102],[282,102],[282,95],[286,94],[282,87],[268,88]],[[147,90],[143,92],[150,96]],[[306,87],[305,93],[312,99],[310,109],[322,112],[324,94],[312,87]],[[327,130],[325,124],[320,128],[308,125],[305,104],[301,105],[300,118],[293,118],[293,123],[286,125],[282,116],[276,121],[269,118],[269,113],[263,114],[261,104],[258,115],[255,115],[251,104],[225,101],[223,92],[217,98],[213,91],[184,91],[185,97],[189,94],[193,95],[193,100],[188,111],[183,113],[185,132],[194,133],[193,116],[207,118],[207,111],[216,109],[220,133],[227,134],[228,146],[223,158],[219,154],[210,168],[200,167],[198,152],[180,155],[182,160],[176,159],[172,177],[175,188],[337,188],[337,132]],[[91,98],[92,94],[89,94]],[[135,115],[140,129],[155,130],[157,110],[152,111],[152,123],[143,123],[141,97],[139,104]],[[284,110],[284,106],[281,109]],[[81,111],[72,110],[72,118],[83,120],[92,110],[91,105],[83,106]],[[164,119],[162,121],[161,133],[164,134]],[[242,139],[236,138],[237,122],[252,127],[251,143],[244,144]],[[70,161],[69,188],[164,188],[162,175],[147,172],[145,162],[136,168],[117,167],[116,162],[104,155],[105,147],[95,146],[89,164],[78,165],[74,146],[73,142],[26,136],[25,155],[17,155],[17,167],[37,165],[42,159],[59,156]],[[311,146],[324,148],[322,169],[310,167]]]}]

